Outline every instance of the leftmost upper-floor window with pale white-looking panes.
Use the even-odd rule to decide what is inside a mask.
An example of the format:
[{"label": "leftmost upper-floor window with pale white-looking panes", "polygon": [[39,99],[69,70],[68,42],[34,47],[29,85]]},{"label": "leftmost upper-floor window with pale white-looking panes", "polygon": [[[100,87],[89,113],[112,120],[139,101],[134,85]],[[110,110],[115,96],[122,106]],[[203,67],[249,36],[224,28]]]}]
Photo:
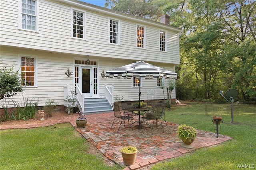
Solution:
[{"label": "leftmost upper-floor window with pale white-looking panes", "polygon": [[22,0],[19,1],[21,4],[20,17],[21,23],[19,24],[21,29],[27,29],[36,31],[37,25],[37,4],[36,0]]}]

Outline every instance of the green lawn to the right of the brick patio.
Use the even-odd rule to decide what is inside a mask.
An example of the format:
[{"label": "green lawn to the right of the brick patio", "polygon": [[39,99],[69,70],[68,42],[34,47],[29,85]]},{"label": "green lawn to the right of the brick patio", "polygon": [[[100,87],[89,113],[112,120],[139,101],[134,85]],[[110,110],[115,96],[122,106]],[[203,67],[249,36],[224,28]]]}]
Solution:
[{"label": "green lawn to the right of the brick patio", "polygon": [[[211,117],[205,113],[205,104],[172,107],[166,111],[167,121],[214,132]],[[222,115],[222,119],[220,133],[232,137],[232,140],[160,162],[151,170],[234,170],[241,164],[247,166],[243,169],[256,168],[256,106],[239,105],[234,124],[230,124],[230,115]]]}]

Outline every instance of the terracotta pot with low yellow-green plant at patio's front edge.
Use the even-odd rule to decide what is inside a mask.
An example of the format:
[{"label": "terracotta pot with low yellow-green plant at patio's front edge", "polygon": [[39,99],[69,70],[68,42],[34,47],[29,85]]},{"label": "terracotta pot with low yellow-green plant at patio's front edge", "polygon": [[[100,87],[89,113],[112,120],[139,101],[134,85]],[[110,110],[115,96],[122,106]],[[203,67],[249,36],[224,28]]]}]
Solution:
[{"label": "terracotta pot with low yellow-green plant at patio's front edge", "polygon": [[122,147],[122,149],[120,149],[120,152],[122,152],[122,157],[125,165],[129,166],[135,164],[135,159],[138,152],[137,147]]}]

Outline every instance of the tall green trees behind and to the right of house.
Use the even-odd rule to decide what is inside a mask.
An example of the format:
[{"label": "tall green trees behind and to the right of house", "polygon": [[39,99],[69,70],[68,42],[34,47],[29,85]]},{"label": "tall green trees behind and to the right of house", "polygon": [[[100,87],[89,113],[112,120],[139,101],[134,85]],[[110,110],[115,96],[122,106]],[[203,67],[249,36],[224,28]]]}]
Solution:
[{"label": "tall green trees behind and to the right of house", "polygon": [[[220,98],[237,89],[240,99],[256,101],[256,1],[106,0],[126,14],[182,28],[176,93],[180,99]],[[190,83],[188,83],[190,82]]]}]

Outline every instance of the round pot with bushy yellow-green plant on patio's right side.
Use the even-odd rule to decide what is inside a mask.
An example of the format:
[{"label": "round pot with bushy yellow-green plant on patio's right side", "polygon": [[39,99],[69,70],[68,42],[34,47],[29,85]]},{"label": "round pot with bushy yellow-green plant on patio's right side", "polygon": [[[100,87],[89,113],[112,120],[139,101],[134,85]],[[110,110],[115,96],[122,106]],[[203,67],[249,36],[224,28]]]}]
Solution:
[{"label": "round pot with bushy yellow-green plant on patio's right side", "polygon": [[196,129],[189,125],[180,125],[177,130],[178,138],[183,141],[184,144],[183,147],[191,148],[191,143],[194,142],[194,139],[196,138]]}]

